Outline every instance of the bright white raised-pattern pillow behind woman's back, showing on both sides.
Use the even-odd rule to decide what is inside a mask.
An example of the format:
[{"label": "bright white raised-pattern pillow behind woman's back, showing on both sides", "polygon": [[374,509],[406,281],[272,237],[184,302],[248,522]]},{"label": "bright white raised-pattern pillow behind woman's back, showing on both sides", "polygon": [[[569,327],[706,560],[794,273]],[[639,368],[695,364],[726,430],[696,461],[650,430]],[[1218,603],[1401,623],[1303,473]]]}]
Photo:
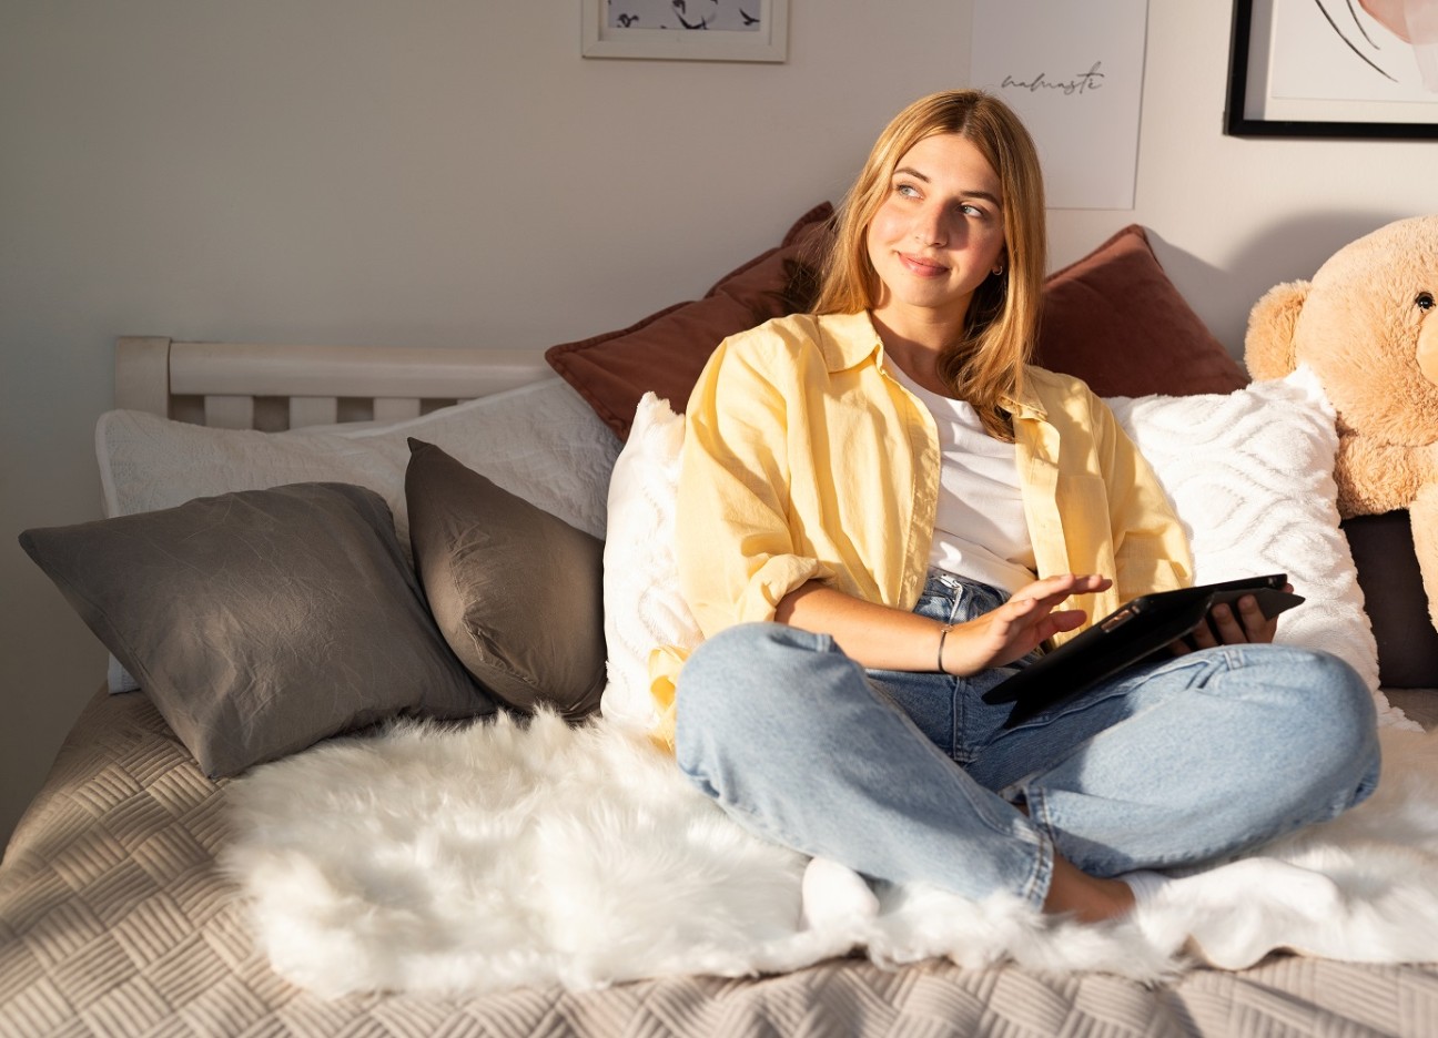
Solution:
[{"label": "bright white raised-pattern pillow behind woman's back, showing on both sides", "polygon": [[[650,394],[651,397],[653,394]],[[1286,572],[1306,602],[1284,614],[1278,641],[1327,650],[1378,692],[1378,646],[1339,529],[1334,414],[1306,368],[1231,394],[1107,401],[1148,457],[1189,533],[1195,581]],[[699,630],[679,594],[674,490],[683,420],[640,403],[610,487],[604,554],[604,712],[643,722],[650,651],[692,647]]]}]

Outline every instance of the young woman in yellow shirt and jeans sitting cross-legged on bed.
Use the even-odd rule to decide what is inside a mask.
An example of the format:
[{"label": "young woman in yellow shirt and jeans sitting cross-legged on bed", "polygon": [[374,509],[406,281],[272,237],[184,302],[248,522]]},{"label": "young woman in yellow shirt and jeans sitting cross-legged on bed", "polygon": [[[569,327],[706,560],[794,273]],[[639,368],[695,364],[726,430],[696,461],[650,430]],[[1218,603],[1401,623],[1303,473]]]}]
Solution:
[{"label": "young woman in yellow shirt and jeans sitting cross-legged on bed", "polygon": [[706,641],[673,738],[762,837],[1099,920],[1133,904],[1136,870],[1359,802],[1378,743],[1352,669],[1264,644],[1252,600],[1199,651],[1011,730],[982,702],[1045,641],[1191,575],[1110,411],[1027,364],[1044,260],[1037,154],[1001,101],[894,118],[817,312],[725,341],[689,401],[679,564]]}]

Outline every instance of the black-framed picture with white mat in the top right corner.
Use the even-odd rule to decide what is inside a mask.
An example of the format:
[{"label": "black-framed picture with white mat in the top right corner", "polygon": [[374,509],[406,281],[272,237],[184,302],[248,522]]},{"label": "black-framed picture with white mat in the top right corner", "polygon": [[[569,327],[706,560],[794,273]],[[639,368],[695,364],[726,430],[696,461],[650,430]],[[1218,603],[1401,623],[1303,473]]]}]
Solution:
[{"label": "black-framed picture with white mat in the top right corner", "polygon": [[1438,0],[1235,0],[1224,132],[1438,137]]}]

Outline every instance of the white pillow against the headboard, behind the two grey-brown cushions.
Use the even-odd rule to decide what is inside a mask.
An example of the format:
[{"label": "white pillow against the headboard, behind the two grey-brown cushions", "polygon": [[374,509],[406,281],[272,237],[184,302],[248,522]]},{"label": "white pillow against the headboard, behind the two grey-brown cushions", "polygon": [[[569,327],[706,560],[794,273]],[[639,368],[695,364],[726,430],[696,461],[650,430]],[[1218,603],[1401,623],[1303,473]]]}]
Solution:
[{"label": "white pillow against the headboard, behind the two grey-brown cushions", "polygon": [[[95,428],[105,515],[154,512],[194,497],[285,483],[355,483],[384,497],[408,554],[404,472],[413,436],[571,526],[604,536],[605,495],[620,441],[558,377],[407,421],[329,428],[260,433],[109,411]],[[108,686],[111,692],[137,687],[115,660]]]}]

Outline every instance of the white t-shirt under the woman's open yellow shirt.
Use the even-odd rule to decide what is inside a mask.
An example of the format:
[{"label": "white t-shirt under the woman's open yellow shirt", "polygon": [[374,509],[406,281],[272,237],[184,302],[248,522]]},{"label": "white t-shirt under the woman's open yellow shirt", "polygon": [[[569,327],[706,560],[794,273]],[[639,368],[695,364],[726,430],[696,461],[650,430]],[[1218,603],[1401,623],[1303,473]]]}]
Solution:
[{"label": "white t-shirt under the woman's open yellow shirt", "polygon": [[899,365],[884,369],[917,397],[939,427],[939,513],[929,565],[1012,594],[1034,579],[1017,449],[984,431],[974,407],[925,390]]}]

